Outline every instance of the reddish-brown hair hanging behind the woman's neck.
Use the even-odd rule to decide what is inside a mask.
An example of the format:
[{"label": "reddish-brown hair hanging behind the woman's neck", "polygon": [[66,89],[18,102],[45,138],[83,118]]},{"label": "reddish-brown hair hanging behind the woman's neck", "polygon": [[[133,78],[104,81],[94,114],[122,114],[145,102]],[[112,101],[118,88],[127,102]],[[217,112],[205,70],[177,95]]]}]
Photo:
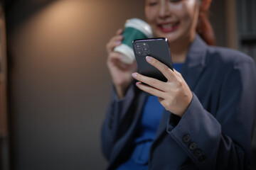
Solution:
[{"label": "reddish-brown hair hanging behind the woman's neck", "polygon": [[208,45],[215,45],[213,28],[209,21],[209,8],[211,0],[200,0],[200,10],[196,32]]}]

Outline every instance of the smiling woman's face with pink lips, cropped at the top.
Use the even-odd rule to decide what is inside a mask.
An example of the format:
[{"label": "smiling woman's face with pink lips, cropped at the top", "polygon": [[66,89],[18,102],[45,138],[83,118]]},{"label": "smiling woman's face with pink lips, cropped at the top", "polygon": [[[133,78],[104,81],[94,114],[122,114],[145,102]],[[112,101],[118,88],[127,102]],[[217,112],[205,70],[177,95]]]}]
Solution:
[{"label": "smiling woman's face with pink lips, cropped at the top", "polygon": [[169,43],[191,40],[196,33],[199,0],[145,0],[145,16],[156,37]]}]

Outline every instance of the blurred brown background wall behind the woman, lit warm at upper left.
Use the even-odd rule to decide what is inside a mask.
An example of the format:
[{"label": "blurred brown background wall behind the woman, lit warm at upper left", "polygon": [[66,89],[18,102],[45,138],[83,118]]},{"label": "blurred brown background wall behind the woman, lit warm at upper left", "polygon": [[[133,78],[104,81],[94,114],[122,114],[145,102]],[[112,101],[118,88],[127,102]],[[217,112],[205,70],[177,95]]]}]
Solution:
[{"label": "blurred brown background wall behind the woman, lit warm at upper left", "polygon": [[[0,169],[105,169],[105,44],[144,1],[0,2]],[[213,0],[217,45],[256,59],[255,2]]]}]

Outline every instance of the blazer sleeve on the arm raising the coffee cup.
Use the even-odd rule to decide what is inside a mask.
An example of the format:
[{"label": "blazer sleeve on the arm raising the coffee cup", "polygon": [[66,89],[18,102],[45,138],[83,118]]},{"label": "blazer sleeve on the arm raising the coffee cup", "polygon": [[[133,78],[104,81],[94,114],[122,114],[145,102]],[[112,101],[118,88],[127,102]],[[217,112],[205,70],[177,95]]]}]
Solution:
[{"label": "blazer sleeve on the arm raising the coffee cup", "polygon": [[110,159],[114,143],[122,137],[132,122],[132,115],[126,116],[126,113],[132,105],[135,96],[134,93],[134,85],[131,85],[129,86],[127,95],[122,100],[119,100],[115,89],[112,88],[110,104],[107,108],[101,130],[102,152],[107,160]]}]

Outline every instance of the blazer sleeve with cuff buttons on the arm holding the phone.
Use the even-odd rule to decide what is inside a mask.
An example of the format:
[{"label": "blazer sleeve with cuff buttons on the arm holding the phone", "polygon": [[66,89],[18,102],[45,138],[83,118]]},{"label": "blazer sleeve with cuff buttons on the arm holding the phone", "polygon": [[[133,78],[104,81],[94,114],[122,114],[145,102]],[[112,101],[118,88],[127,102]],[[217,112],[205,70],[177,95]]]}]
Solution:
[{"label": "blazer sleeve with cuff buttons on the arm holding the phone", "polygon": [[198,169],[250,169],[256,113],[255,79],[252,60],[233,64],[218,91],[218,111],[214,116],[193,94],[178,124],[167,125],[169,135]]}]

